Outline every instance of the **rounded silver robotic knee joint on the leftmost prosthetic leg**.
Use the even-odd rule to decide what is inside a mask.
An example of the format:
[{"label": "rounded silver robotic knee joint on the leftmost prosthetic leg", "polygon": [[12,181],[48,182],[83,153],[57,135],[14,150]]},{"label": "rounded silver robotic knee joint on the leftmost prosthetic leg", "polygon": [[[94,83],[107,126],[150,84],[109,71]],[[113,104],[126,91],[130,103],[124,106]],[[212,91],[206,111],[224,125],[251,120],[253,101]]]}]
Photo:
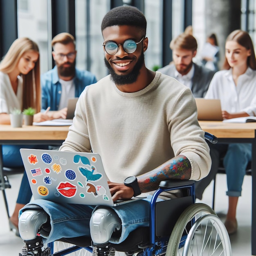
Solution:
[{"label": "rounded silver robotic knee joint on the leftmost prosthetic leg", "polygon": [[[19,218],[19,232],[20,237],[26,243],[27,248],[34,251],[38,248],[43,247],[43,238],[37,236],[38,231],[44,227],[44,231],[40,233],[44,237],[49,235],[49,216],[43,209],[27,209]],[[47,231],[48,229],[48,231]]]}]

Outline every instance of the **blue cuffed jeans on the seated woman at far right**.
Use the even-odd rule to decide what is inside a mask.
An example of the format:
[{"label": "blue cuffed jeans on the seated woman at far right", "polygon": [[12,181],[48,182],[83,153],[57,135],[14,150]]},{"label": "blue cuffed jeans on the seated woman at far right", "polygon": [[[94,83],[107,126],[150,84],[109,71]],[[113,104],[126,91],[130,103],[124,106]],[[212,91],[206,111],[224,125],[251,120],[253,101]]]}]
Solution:
[{"label": "blue cuffed jeans on the seated woman at far right", "polygon": [[240,196],[246,166],[252,160],[252,144],[229,144],[223,164],[227,174],[227,195]]}]

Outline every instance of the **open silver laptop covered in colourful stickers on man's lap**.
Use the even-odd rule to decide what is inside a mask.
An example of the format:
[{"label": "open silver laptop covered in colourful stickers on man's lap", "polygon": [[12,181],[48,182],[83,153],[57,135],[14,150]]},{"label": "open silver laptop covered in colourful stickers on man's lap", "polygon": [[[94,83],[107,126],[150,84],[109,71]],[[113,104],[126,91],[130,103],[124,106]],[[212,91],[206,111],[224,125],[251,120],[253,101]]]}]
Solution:
[{"label": "open silver laptop covered in colourful stickers on man's lap", "polygon": [[20,155],[34,199],[117,206],[145,198],[113,202],[99,154],[21,148]]}]

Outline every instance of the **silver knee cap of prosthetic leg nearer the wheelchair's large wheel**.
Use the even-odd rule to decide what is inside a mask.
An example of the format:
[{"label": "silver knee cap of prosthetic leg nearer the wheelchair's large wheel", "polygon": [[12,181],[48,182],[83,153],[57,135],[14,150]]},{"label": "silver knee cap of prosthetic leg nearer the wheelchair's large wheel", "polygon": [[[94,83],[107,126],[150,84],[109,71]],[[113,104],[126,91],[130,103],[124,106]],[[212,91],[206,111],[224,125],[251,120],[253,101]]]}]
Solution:
[{"label": "silver knee cap of prosthetic leg nearer the wheelchair's large wheel", "polygon": [[90,219],[90,234],[94,244],[108,243],[115,229],[121,229],[121,220],[111,208],[98,208]]}]

